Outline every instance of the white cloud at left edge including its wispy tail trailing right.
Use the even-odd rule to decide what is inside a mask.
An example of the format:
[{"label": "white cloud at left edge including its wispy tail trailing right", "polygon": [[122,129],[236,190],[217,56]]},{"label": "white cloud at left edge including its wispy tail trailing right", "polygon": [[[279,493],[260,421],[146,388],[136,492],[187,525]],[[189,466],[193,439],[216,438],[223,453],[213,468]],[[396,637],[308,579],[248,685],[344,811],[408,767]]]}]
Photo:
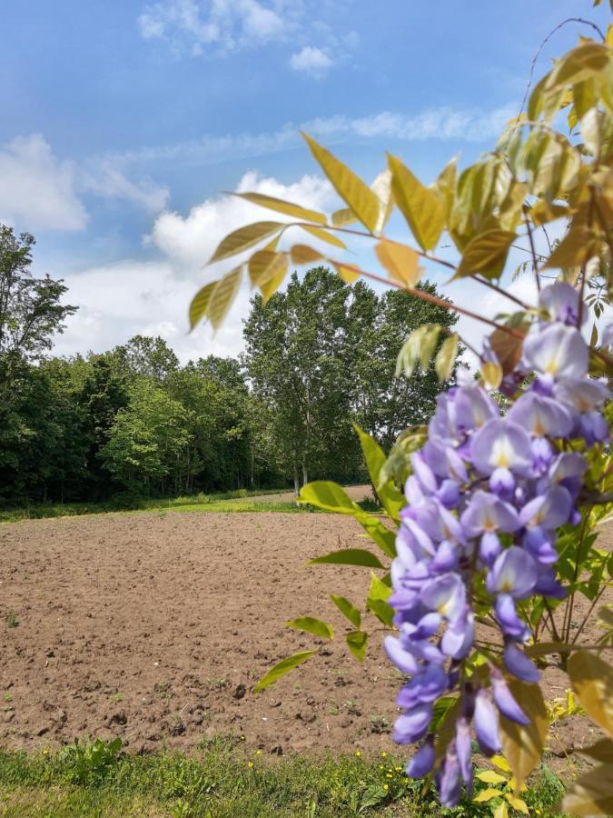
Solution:
[{"label": "white cloud at left edge including its wispy tail trailing right", "polygon": [[83,196],[124,199],[159,212],[168,191],[151,180],[133,182],[111,157],[79,165],[59,159],[43,135],[0,145],[0,221],[36,230],[83,230]]}]

